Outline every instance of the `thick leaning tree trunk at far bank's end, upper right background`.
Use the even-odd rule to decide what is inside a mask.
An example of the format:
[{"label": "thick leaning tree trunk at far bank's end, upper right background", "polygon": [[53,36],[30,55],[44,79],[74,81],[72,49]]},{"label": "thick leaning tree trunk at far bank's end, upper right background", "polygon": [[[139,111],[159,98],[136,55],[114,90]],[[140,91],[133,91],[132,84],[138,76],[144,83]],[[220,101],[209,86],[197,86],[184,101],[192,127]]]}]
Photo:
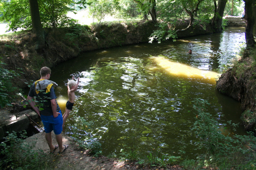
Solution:
[{"label": "thick leaning tree trunk at far bank's end, upper right background", "polygon": [[214,14],[211,25],[213,26],[214,32],[221,32],[222,17],[224,14],[227,0],[219,0],[217,6],[217,12]]}]

